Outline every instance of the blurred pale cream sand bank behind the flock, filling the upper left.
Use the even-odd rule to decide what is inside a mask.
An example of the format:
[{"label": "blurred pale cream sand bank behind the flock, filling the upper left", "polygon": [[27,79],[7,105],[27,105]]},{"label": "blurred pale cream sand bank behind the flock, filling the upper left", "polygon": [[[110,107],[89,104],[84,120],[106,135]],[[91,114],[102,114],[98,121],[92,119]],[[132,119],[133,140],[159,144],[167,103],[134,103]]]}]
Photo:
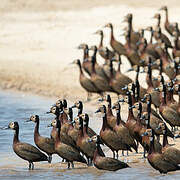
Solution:
[{"label": "blurred pale cream sand bank behind the flock, filling the upper left", "polygon": [[[155,25],[152,16],[161,5],[168,5],[171,22],[180,22],[178,0],[1,0],[0,86],[85,99],[78,68],[68,65],[82,58],[82,51],[76,47],[80,43],[97,45],[99,37],[93,33],[108,22],[114,24],[116,39],[124,42],[124,37],[119,36],[126,26],[123,17],[134,14],[135,30]],[[105,45],[109,46],[110,31],[104,31]],[[123,59],[122,71],[128,67]]]}]

